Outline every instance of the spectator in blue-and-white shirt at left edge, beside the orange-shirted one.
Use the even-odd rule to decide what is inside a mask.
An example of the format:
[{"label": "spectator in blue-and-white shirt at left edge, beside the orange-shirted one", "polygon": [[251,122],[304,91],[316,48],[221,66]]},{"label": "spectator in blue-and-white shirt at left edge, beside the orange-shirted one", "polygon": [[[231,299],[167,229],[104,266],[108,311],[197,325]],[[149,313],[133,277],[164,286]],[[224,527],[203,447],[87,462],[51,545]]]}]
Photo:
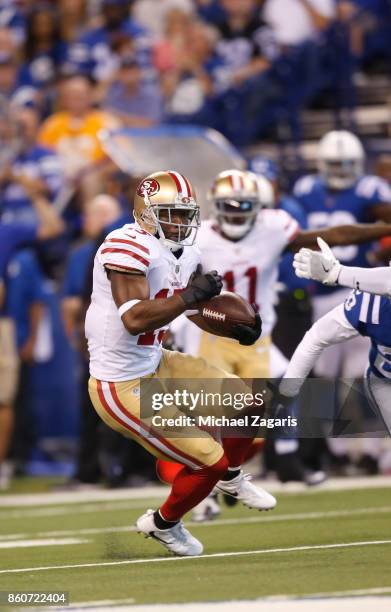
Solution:
[{"label": "spectator in blue-and-white shirt at left edge, beside the orange-shirted one", "polygon": [[37,213],[31,190],[51,202],[62,186],[62,171],[57,155],[36,144],[39,115],[33,108],[17,108],[12,120],[18,134],[16,151],[0,173],[1,219],[3,223],[34,223]]}]

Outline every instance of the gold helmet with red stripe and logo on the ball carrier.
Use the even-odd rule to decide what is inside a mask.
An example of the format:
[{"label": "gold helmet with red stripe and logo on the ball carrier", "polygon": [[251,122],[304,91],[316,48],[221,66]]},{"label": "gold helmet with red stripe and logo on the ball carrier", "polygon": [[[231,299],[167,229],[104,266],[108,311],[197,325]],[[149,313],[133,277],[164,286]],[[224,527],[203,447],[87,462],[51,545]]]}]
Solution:
[{"label": "gold helmet with red stripe and logo on the ball carrier", "polygon": [[[164,215],[162,211],[166,211]],[[172,221],[174,211],[183,211],[182,223]],[[175,170],[145,177],[136,190],[134,218],[143,229],[158,234],[172,251],[194,244],[200,226],[200,207],[190,181]],[[175,239],[166,235],[172,228]]]}]

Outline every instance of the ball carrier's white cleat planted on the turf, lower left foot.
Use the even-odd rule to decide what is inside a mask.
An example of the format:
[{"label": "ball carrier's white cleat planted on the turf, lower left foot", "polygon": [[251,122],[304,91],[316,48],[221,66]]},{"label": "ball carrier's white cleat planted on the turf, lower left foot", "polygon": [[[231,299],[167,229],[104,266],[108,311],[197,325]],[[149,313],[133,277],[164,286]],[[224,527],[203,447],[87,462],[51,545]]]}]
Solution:
[{"label": "ball carrier's white cleat planted on the turf, lower left foot", "polygon": [[202,554],[204,547],[201,542],[191,535],[182,521],[169,529],[158,529],[153,514],[153,510],[147,510],[137,519],[138,533],[143,533],[146,538],[158,540],[167,550],[180,557],[193,557]]}]

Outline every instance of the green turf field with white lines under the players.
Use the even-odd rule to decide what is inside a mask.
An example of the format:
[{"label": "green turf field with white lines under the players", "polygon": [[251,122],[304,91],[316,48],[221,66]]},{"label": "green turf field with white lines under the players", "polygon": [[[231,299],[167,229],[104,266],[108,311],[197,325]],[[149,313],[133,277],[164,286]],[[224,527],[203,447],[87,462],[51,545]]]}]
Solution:
[{"label": "green turf field with white lines under the players", "polygon": [[[269,513],[226,508],[214,523],[190,526],[205,546],[197,559],[174,559],[134,532],[135,519],[158,502],[5,508],[0,497],[0,591],[163,603],[391,587],[391,489],[281,494]],[[31,540],[43,545],[26,547]],[[9,572],[16,568],[26,571]]]}]

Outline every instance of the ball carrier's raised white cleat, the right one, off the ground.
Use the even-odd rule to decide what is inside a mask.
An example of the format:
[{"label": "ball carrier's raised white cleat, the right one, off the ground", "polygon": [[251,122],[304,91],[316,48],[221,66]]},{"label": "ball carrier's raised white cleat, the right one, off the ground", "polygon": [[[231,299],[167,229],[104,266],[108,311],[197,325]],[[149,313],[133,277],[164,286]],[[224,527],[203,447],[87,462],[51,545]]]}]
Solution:
[{"label": "ball carrier's raised white cleat, the right one, off the ground", "polygon": [[242,502],[247,508],[254,508],[255,510],[272,510],[277,500],[273,495],[270,495],[264,489],[256,487],[251,482],[251,475],[240,472],[238,476],[232,480],[219,480],[216,484],[216,489],[221,493],[226,493],[235,497],[238,501]]}]

